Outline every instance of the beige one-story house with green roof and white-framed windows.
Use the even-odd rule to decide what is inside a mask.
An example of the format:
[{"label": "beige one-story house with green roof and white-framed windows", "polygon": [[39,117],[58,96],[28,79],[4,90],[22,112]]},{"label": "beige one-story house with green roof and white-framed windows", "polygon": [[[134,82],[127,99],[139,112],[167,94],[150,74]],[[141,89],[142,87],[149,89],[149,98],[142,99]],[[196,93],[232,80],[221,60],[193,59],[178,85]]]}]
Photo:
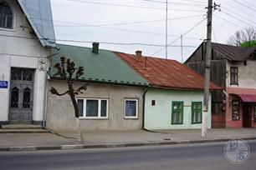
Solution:
[{"label": "beige one-story house with green roof and white-framed windows", "polygon": [[[49,88],[67,90],[67,83],[54,76],[54,63],[68,57],[77,67],[84,67],[84,75],[75,86],[89,83],[87,90],[77,96],[81,130],[138,130],[142,128],[143,95],[146,79],[129,67],[114,52],[94,47],[57,44],[59,53],[52,57]],[[56,132],[76,131],[74,107],[69,95],[62,97],[48,93],[47,127]]]}]

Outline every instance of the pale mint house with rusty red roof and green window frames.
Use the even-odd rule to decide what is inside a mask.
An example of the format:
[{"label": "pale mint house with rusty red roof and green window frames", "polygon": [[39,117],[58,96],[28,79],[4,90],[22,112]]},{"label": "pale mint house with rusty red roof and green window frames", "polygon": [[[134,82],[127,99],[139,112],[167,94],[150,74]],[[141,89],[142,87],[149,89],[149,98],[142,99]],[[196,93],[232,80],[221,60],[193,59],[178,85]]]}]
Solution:
[{"label": "pale mint house with rusty red roof and green window frames", "polygon": [[[202,128],[204,78],[201,75],[175,60],[143,57],[141,51],[136,55],[121,52],[116,55],[149,82],[145,94],[144,128]],[[221,87],[211,82],[210,90],[221,90]],[[211,102],[208,107],[211,108]],[[207,128],[211,128],[211,109]]]}]

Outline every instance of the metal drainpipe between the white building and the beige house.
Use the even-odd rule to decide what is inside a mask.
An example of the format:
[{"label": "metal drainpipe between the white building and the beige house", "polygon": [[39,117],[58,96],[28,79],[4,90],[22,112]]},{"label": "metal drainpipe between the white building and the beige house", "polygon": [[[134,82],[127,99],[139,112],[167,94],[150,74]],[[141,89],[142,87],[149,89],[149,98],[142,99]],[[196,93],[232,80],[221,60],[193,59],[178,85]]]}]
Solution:
[{"label": "metal drainpipe between the white building and the beige house", "polygon": [[[57,52],[50,54],[48,57],[46,57],[47,59],[51,58],[59,53],[59,50],[60,50],[59,47],[52,47],[52,48],[56,49]],[[45,81],[44,81],[44,117],[43,117],[42,128],[46,128],[46,118],[47,118],[47,102],[46,102],[46,100],[48,98],[48,96],[47,96],[47,94],[48,94],[48,79],[47,79],[47,77],[48,77],[48,69],[49,69],[49,61],[48,60],[45,62],[45,65],[46,65],[45,67],[47,70],[45,72]]]}]

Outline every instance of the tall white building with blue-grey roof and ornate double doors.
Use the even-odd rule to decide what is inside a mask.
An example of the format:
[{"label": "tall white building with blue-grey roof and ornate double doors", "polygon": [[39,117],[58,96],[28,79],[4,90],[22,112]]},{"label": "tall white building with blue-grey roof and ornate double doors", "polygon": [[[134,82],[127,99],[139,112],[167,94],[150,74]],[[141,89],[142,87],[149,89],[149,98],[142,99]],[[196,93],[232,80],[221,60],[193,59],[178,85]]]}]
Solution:
[{"label": "tall white building with blue-grey roof and ornate double doors", "polygon": [[50,0],[0,0],[0,125],[45,120]]}]

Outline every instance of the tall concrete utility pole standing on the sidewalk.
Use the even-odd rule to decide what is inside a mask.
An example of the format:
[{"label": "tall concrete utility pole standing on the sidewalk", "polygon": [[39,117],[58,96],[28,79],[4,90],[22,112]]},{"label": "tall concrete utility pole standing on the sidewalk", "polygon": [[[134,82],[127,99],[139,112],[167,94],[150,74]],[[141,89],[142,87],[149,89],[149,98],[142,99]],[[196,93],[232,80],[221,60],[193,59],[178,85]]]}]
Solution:
[{"label": "tall concrete utility pole standing on the sidewalk", "polygon": [[202,121],[202,137],[207,137],[207,114],[209,110],[209,86],[211,71],[211,53],[212,53],[212,0],[208,0],[207,7],[207,47],[204,60],[204,96],[203,96],[203,121]]}]

